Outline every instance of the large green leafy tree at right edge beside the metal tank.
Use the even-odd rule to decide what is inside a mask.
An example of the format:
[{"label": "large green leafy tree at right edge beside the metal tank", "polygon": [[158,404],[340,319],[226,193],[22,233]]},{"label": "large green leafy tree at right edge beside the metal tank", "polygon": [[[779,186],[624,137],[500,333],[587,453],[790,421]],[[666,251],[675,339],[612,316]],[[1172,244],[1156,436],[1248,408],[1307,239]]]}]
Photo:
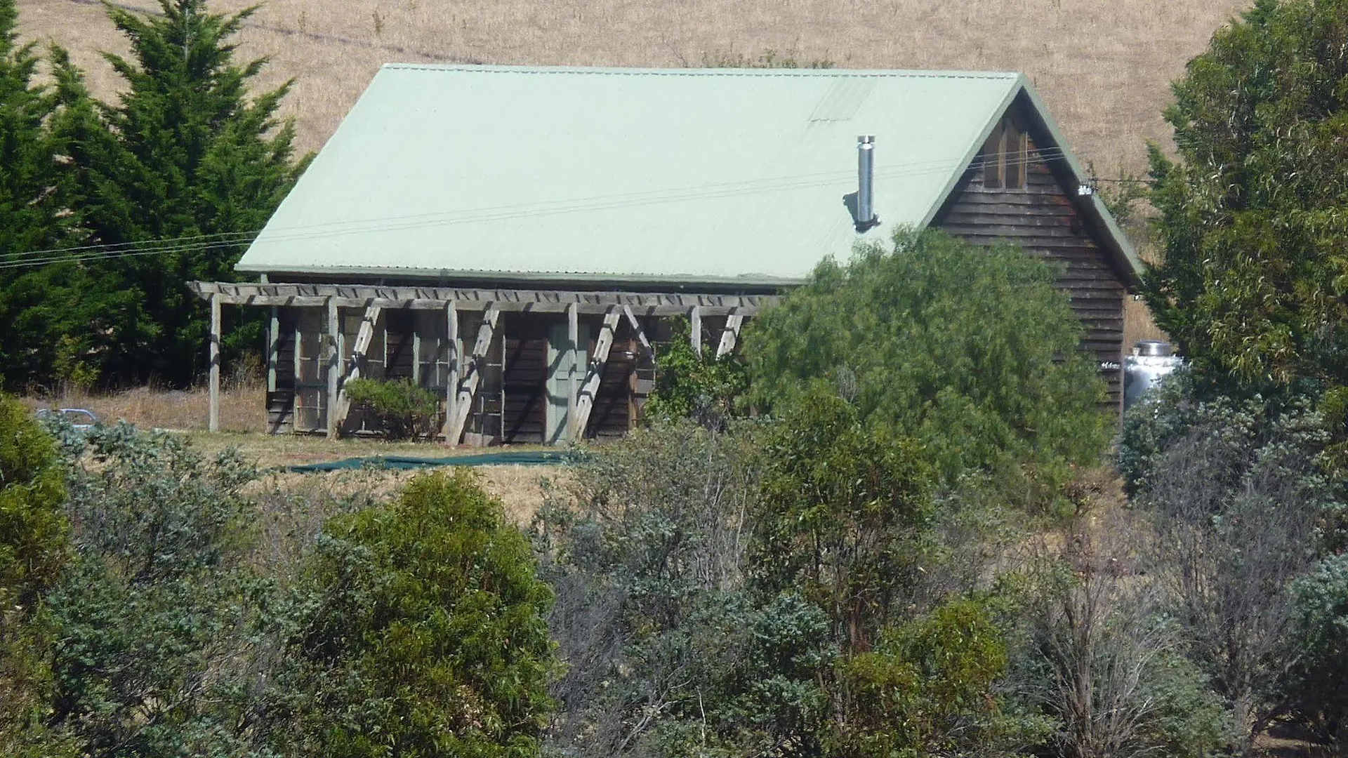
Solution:
[{"label": "large green leafy tree at right edge beside the metal tank", "polygon": [[1348,4],[1259,0],[1173,85],[1151,148],[1157,322],[1204,374],[1341,382],[1348,317]]}]

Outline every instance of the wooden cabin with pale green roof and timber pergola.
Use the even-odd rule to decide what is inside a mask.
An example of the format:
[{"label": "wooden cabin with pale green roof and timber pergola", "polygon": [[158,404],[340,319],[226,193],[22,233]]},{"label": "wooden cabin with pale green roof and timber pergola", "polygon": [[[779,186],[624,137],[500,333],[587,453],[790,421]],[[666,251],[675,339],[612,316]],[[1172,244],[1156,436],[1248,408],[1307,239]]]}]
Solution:
[{"label": "wooden cabin with pale green roof and timber pergola", "polygon": [[361,433],[353,376],[448,442],[619,436],[670,318],[698,349],[899,225],[1061,264],[1111,402],[1140,264],[1015,73],[388,65],[210,302],[270,313],[274,433]]}]

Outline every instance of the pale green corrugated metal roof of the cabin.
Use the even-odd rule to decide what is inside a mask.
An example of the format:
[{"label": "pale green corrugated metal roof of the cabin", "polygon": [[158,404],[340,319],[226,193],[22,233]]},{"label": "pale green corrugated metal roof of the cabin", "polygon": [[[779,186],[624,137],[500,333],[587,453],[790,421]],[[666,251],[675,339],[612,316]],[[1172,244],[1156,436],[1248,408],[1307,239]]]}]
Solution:
[{"label": "pale green corrugated metal roof of the cabin", "polygon": [[[923,225],[1014,73],[388,65],[245,272],[798,281]],[[856,136],[876,136],[857,235]]]}]

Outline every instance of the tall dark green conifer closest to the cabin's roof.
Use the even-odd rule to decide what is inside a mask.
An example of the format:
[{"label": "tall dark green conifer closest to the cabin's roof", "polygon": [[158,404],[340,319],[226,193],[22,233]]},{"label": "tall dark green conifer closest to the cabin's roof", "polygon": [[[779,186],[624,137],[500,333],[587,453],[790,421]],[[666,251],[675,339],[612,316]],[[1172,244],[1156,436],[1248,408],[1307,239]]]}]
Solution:
[{"label": "tall dark green conifer closest to the cabin's roof", "polygon": [[[133,252],[84,264],[117,287],[106,294],[119,308],[100,332],[101,367],[116,383],[185,384],[205,368],[205,308],[186,282],[232,279],[249,233],[307,163],[293,161],[294,124],[276,117],[291,82],[249,97],[267,61],[235,62],[231,38],[255,8],[224,16],[204,0],[159,5],[158,16],[108,7],[131,42],[128,58],[105,54],[125,90],[115,105],[85,109],[75,77],[61,129],[75,174],[71,208],[89,241]],[[236,326],[226,347],[257,333],[256,321]]]}]

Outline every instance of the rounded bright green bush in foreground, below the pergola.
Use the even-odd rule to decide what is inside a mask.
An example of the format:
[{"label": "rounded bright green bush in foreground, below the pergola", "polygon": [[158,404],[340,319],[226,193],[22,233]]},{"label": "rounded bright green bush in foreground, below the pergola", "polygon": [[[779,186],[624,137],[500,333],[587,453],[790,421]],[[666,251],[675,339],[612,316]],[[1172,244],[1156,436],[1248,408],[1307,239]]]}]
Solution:
[{"label": "rounded bright green bush in foreground, below the pergola", "polygon": [[527,757],[550,709],[553,595],[473,475],[326,527],[290,622],[283,754]]}]

